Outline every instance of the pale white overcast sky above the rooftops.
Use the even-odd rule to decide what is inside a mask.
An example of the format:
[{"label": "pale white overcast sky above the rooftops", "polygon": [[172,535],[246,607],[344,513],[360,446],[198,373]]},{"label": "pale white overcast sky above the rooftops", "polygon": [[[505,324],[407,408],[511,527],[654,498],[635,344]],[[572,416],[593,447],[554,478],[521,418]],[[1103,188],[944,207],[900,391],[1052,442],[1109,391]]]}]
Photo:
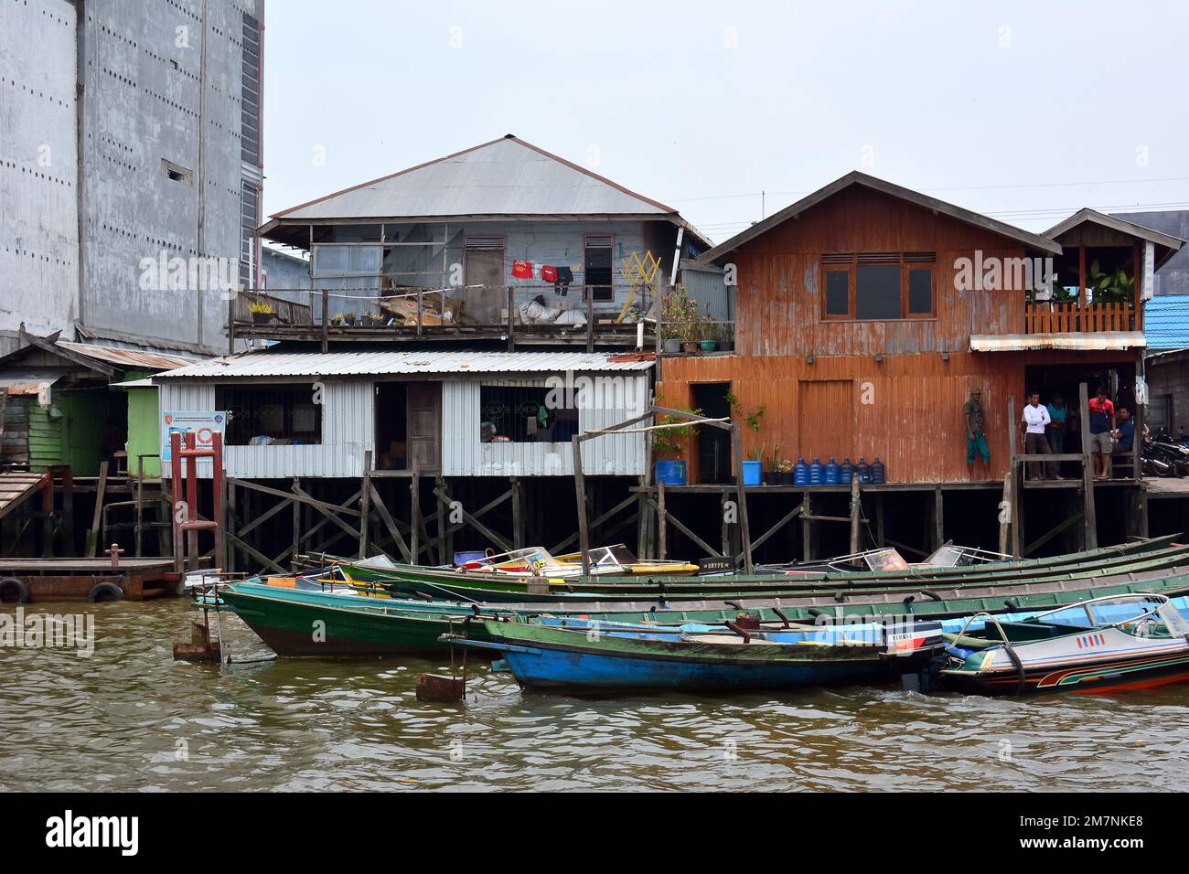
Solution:
[{"label": "pale white overcast sky above the rooftops", "polygon": [[1189,207],[1184,0],[268,0],[265,27],[265,214],[505,133],[716,241],[855,169],[1031,231]]}]

